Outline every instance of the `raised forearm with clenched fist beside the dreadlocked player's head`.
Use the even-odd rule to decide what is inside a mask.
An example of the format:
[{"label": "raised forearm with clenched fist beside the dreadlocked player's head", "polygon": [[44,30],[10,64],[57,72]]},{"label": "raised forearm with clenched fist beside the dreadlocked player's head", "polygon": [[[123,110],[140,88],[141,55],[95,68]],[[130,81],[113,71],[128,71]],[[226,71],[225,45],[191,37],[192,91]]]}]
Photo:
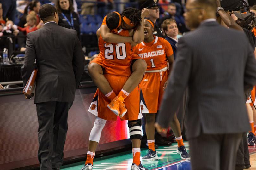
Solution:
[{"label": "raised forearm with clenched fist beside the dreadlocked player's head", "polygon": [[137,44],[141,43],[144,40],[144,18],[149,14],[150,12],[148,9],[142,9],[140,26],[137,27],[133,34],[133,41]]}]

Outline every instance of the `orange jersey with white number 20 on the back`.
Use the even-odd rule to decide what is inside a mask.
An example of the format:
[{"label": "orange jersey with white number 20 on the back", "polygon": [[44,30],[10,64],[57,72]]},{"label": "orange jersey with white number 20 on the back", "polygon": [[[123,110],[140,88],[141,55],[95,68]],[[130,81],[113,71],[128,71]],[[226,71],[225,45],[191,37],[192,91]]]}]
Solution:
[{"label": "orange jersey with white number 20 on the back", "polygon": [[[121,36],[129,36],[127,30],[119,30],[117,32]],[[101,35],[99,38],[99,48],[103,64],[105,65],[105,74],[113,74],[117,76],[131,75],[131,60],[140,59],[138,55],[132,53],[130,43],[107,43]]]}]

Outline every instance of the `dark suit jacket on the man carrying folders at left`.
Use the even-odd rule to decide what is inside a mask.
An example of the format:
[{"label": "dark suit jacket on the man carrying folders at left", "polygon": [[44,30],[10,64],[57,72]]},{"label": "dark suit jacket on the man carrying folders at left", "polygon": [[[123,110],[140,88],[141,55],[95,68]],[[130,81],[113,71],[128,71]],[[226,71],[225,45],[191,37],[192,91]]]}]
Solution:
[{"label": "dark suit jacket on the man carrying folders at left", "polygon": [[37,67],[35,103],[74,101],[84,65],[82,46],[75,30],[50,22],[27,34],[22,80],[25,86]]}]

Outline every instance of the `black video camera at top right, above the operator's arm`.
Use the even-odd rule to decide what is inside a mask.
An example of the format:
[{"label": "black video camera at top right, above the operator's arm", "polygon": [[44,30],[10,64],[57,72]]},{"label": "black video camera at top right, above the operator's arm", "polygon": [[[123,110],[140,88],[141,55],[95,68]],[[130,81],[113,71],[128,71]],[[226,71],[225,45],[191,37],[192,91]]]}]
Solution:
[{"label": "black video camera at top right, above the operator's arm", "polygon": [[246,11],[249,10],[249,7],[244,0],[221,0],[220,2],[221,7],[223,7],[225,11],[239,11],[245,7],[247,8]]}]

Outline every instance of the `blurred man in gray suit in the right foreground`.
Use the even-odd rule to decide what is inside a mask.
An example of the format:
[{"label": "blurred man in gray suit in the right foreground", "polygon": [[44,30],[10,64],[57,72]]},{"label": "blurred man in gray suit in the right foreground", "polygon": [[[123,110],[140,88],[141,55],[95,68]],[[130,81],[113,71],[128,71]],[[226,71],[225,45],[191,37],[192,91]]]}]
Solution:
[{"label": "blurred man in gray suit in the right foreground", "polygon": [[188,0],[186,24],[157,117],[162,130],[189,88],[187,137],[193,170],[233,170],[243,132],[250,129],[244,92],[256,84],[256,61],[243,32],[216,22],[215,0]]}]

